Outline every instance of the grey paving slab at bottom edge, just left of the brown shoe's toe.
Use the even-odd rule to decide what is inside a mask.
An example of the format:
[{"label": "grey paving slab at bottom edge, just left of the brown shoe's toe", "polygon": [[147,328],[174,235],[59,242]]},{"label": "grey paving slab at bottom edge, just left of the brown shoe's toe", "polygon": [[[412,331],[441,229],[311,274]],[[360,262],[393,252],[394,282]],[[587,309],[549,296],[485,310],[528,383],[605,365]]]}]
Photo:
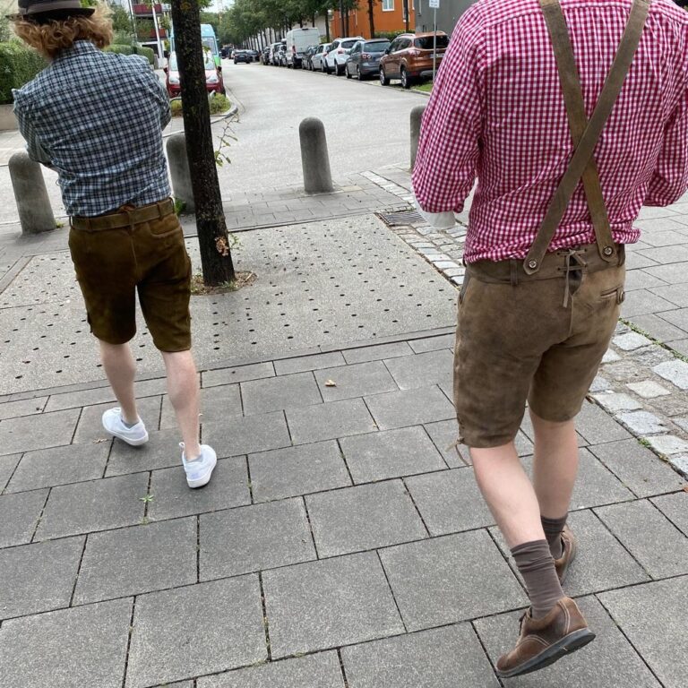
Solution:
[{"label": "grey paving slab at bottom edge, just left of the brown shoe's toe", "polygon": [[341,650],[350,688],[481,688],[499,682],[469,624]]}]

